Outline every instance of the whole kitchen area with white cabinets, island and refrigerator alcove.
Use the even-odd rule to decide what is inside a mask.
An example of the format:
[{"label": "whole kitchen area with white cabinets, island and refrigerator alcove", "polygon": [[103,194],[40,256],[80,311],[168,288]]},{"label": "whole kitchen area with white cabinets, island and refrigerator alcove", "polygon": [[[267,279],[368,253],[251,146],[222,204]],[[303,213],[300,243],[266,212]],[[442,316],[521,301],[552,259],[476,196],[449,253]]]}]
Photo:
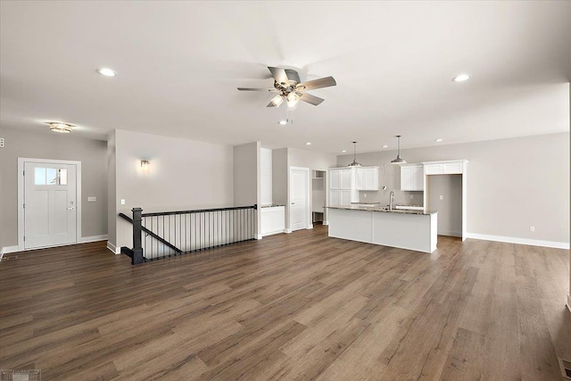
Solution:
[{"label": "whole kitchen area with white cabinets, island and refrigerator alcove", "polygon": [[466,160],[329,169],[329,236],[423,253],[436,250],[438,235],[464,240],[467,173]]}]

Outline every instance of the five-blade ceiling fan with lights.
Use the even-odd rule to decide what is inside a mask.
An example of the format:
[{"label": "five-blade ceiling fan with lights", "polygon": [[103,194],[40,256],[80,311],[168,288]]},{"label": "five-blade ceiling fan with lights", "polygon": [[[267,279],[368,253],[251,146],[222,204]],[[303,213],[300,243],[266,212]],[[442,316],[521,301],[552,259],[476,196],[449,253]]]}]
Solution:
[{"label": "five-blade ceiling fan with lights", "polygon": [[272,77],[274,78],[274,87],[269,88],[252,88],[252,87],[238,87],[240,91],[268,91],[269,93],[278,93],[269,102],[267,107],[279,107],[284,101],[290,110],[294,110],[298,101],[307,102],[317,106],[324,101],[319,96],[310,95],[306,93],[307,90],[314,90],[321,87],[335,86],[337,83],[331,76],[313,79],[307,82],[300,80],[300,75],[293,69],[282,69],[268,66]]}]

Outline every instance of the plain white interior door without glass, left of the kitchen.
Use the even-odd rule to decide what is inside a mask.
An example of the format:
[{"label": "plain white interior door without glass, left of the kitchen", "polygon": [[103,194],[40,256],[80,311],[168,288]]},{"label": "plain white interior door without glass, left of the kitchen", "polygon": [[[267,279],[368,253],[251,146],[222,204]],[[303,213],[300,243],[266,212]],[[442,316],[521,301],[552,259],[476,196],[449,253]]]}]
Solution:
[{"label": "plain white interior door without glass, left of the kitchen", "polygon": [[309,178],[309,168],[290,168],[289,220],[292,231],[308,228]]}]

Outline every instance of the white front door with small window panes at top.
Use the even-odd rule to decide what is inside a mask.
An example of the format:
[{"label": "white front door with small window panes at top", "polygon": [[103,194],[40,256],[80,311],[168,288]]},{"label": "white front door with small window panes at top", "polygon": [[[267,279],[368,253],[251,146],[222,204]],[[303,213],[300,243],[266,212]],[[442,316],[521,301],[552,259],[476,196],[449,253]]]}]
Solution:
[{"label": "white front door with small window panes at top", "polygon": [[24,248],[77,242],[77,168],[24,162]]}]

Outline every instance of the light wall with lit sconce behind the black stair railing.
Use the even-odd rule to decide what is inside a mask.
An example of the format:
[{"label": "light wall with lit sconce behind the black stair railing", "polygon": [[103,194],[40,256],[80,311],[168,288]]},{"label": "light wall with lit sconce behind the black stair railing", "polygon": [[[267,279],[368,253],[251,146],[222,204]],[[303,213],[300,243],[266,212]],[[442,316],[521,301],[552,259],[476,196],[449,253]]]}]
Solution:
[{"label": "light wall with lit sconce behind the black stair railing", "polygon": [[[151,162],[143,171],[141,160]],[[175,137],[115,131],[115,216],[132,208],[185,211],[234,204],[233,148]],[[125,199],[121,205],[120,200]],[[117,247],[132,247],[132,228],[117,220]]]}]

